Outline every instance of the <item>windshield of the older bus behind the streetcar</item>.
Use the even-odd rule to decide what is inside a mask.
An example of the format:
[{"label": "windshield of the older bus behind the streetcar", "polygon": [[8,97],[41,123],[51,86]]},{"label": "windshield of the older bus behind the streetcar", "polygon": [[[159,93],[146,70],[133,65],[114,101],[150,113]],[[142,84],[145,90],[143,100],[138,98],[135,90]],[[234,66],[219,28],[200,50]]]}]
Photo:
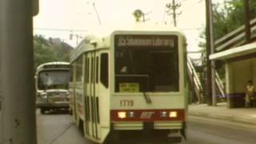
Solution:
[{"label": "windshield of the older bus behind the streetcar", "polygon": [[38,75],[38,89],[68,89],[69,70],[44,70]]}]

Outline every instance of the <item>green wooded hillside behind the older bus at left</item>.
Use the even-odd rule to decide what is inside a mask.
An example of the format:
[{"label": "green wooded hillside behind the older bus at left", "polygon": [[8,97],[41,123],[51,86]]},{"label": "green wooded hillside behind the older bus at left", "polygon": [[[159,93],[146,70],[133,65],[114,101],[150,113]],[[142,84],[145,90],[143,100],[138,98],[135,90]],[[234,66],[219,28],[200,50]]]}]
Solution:
[{"label": "green wooded hillside behind the older bus at left", "polygon": [[52,42],[42,36],[34,36],[34,66],[46,62],[70,62],[73,48],[65,42]]}]

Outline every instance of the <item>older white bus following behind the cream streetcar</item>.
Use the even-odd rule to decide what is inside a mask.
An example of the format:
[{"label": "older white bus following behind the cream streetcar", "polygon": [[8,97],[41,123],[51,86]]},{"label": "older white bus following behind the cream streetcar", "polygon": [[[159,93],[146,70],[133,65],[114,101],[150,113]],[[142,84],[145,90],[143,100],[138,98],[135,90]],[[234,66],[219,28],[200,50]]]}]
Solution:
[{"label": "older white bus following behind the cream streetcar", "polygon": [[48,110],[69,110],[69,62],[47,62],[38,66],[35,74],[36,106],[41,114]]}]

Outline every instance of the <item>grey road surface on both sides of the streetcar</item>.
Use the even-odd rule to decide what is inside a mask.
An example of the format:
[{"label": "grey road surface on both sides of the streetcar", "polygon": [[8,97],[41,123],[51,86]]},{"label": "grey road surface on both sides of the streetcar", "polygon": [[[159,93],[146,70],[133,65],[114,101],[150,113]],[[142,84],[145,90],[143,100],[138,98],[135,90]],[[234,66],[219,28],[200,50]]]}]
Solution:
[{"label": "grey road surface on both sides of the streetcar", "polygon": [[[94,144],[82,137],[69,114],[37,113],[37,125],[38,144]],[[188,140],[181,144],[254,144],[255,135],[256,126],[190,117]],[[140,141],[122,143],[161,144]]]}]

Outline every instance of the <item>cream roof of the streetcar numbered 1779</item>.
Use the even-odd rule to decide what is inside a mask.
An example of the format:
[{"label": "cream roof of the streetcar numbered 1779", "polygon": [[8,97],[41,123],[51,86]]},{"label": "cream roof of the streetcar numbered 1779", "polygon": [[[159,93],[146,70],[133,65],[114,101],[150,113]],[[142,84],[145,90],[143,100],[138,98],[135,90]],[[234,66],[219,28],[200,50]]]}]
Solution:
[{"label": "cream roof of the streetcar numbered 1779", "polygon": [[110,38],[112,34],[143,34],[143,33],[163,33],[163,34],[180,34],[184,36],[176,27],[166,26],[166,25],[146,25],[146,24],[137,24],[134,26],[120,26],[120,27],[111,27],[106,28],[101,27],[98,30],[95,30],[93,34],[87,35],[83,38],[82,42],[76,47],[75,50],[71,53],[71,62],[78,58],[81,54],[86,51],[95,50],[96,48],[107,48],[110,46]]}]

